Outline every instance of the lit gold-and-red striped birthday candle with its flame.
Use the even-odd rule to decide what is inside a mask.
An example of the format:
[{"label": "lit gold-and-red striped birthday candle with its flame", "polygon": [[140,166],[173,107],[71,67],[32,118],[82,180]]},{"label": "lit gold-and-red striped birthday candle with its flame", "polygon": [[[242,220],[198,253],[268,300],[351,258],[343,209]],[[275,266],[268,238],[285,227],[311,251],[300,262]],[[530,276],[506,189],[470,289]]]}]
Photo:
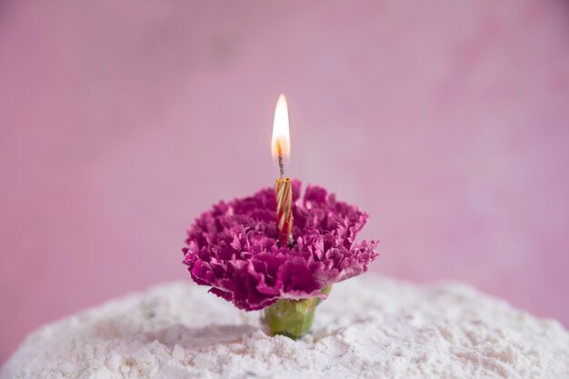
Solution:
[{"label": "lit gold-and-red striped birthday candle with its flame", "polygon": [[281,244],[290,245],[293,244],[293,188],[291,179],[284,175],[284,158],[290,156],[290,132],[286,97],[283,94],[276,101],[271,153],[279,167],[279,177],[275,182],[278,240]]}]

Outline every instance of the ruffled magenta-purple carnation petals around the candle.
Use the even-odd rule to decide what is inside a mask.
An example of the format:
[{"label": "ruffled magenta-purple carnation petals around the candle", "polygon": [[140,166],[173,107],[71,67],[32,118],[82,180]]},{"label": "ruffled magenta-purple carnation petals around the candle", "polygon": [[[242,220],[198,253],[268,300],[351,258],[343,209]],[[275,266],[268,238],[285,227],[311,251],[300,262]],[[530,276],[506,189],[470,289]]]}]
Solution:
[{"label": "ruffled magenta-purple carnation petals around the candle", "polygon": [[276,241],[273,188],[221,202],[195,220],[183,250],[195,283],[253,311],[278,299],[325,298],[322,289],[367,270],[377,243],[354,242],[367,214],[318,186],[300,199],[300,182],[292,185],[292,247]]}]

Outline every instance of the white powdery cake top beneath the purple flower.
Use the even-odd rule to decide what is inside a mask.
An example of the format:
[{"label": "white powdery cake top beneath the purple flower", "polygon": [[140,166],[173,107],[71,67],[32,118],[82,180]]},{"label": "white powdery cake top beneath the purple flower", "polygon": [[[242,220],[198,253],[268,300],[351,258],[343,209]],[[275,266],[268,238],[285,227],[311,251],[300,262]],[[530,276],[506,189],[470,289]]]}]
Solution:
[{"label": "white powdery cake top beneath the purple flower", "polygon": [[297,342],[258,320],[204,287],[164,284],[30,334],[0,379],[569,378],[559,323],[464,284],[336,284]]}]

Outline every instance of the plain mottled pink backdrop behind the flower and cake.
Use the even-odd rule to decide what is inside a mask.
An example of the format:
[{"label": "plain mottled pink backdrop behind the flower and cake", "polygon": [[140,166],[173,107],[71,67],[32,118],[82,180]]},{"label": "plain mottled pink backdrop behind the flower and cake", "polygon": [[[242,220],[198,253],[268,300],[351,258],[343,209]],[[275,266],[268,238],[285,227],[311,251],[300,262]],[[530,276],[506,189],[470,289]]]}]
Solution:
[{"label": "plain mottled pink backdrop behind the flower and cake", "polygon": [[[31,329],[185,279],[185,227],[290,174],[371,214],[373,271],[569,325],[563,1],[3,2],[0,362]],[[144,4],[144,5],[143,5]]]}]

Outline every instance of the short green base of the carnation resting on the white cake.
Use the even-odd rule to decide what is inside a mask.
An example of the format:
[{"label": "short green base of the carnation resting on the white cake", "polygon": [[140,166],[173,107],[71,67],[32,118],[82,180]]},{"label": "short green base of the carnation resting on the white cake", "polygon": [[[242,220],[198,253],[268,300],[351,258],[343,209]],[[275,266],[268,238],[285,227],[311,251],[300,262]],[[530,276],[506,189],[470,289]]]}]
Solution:
[{"label": "short green base of the carnation resting on the white cake", "polygon": [[[332,285],[322,290],[330,294]],[[263,322],[273,334],[282,334],[294,340],[310,333],[314,323],[316,306],[322,303],[319,297],[302,300],[281,299],[263,310]]]}]

